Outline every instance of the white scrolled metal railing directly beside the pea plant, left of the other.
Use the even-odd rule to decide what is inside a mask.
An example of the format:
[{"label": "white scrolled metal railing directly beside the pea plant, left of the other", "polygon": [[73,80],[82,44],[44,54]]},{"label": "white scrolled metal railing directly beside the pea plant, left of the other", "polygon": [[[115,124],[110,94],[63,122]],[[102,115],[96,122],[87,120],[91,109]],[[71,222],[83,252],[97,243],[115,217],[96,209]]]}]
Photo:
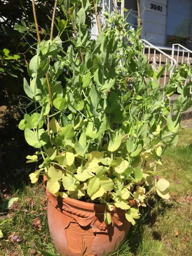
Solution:
[{"label": "white scrolled metal railing directly beside the pea plant, left of the other", "polygon": [[[165,71],[164,71],[164,78],[163,78],[163,81],[161,80],[161,82],[163,82],[163,86],[165,86],[166,82],[167,81],[167,74],[169,73],[169,77],[172,77],[172,74],[173,74],[173,71],[174,69],[176,68],[176,65],[177,65],[177,61],[172,58],[170,55],[166,54],[165,52],[163,52],[162,50],[160,50],[158,47],[156,47],[155,45],[149,43],[148,41],[146,41],[145,39],[141,39],[141,41],[144,43],[145,47],[143,49],[143,54],[146,54],[147,57],[148,57],[148,60],[152,63],[151,63],[151,67],[155,70],[155,71],[159,71],[159,68],[160,67],[163,67],[164,65],[166,65],[168,62],[171,63],[171,70],[168,71],[167,70],[167,67],[165,68]],[[145,49],[148,48],[148,53],[145,53]],[[151,49],[153,49],[153,53],[151,53]],[[151,57],[150,54],[152,54],[153,56]],[[158,56],[156,56],[156,54],[158,54]],[[162,60],[162,57],[165,58],[165,61]],[[169,61],[168,61],[169,60]],[[159,63],[157,63],[157,61]],[[158,82],[160,83],[160,79],[158,79]],[[168,78],[169,79],[169,78]]]}]

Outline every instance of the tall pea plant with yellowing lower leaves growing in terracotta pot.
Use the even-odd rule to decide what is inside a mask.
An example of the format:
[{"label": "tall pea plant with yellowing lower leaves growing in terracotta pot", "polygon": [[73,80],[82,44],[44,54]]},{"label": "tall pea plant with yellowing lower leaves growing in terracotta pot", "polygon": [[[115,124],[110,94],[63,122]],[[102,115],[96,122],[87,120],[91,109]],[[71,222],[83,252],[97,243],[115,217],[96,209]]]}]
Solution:
[{"label": "tall pea plant with yellowing lower leaves growing in terracotta pot", "polygon": [[[56,196],[106,204],[107,224],[115,206],[134,225],[139,208],[129,200],[146,206],[152,190],[169,198],[169,182],[156,178],[162,174],[157,166],[165,149],[177,144],[180,113],[192,105],[190,84],[183,86],[178,71],[161,91],[163,70],[157,73],[143,55],[141,28],[130,28],[118,12],[103,12],[102,27],[97,16],[100,33],[91,40],[86,17],[97,14],[98,2],[59,4],[64,26],[74,30],[66,39],[68,49],[59,35],[39,41],[28,65],[30,78],[24,78],[24,91],[35,106],[19,124],[36,148],[27,156],[27,162],[37,162],[29,177],[35,183],[45,175]],[[176,83],[181,95],[172,117],[169,97]]]}]

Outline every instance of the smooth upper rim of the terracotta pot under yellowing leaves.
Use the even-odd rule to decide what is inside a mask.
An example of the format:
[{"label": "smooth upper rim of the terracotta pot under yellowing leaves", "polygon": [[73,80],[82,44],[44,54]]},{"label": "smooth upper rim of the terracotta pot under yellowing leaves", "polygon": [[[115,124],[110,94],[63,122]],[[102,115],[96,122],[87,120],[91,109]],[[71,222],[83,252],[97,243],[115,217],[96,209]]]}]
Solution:
[{"label": "smooth upper rim of the terracotta pot under yellowing leaves", "polygon": [[[43,181],[44,181],[44,186],[45,186],[47,196],[51,195],[55,199],[57,199],[57,197],[62,198],[61,196],[57,196],[56,194],[51,194],[51,192],[48,190],[47,186],[45,185],[45,181],[47,181],[47,177],[45,175],[43,176]],[[98,207],[101,207],[101,208],[106,207],[106,204],[88,203],[88,202],[80,201],[80,200],[77,200],[77,199],[74,199],[71,197],[62,198],[62,201],[63,201],[63,203],[76,206],[77,208],[82,208],[82,209],[91,210],[91,211],[94,211],[95,207],[97,207],[97,208]],[[130,203],[131,207],[137,206],[135,199],[129,200],[129,203]],[[116,209],[116,207],[114,206],[114,210],[115,209]]]}]

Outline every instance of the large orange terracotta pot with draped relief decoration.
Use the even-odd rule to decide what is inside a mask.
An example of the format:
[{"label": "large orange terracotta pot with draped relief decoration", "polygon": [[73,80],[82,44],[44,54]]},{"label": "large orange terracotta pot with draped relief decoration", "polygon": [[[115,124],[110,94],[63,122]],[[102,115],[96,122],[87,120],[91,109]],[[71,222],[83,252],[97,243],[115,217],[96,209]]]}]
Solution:
[{"label": "large orange terracotta pot with draped relief decoration", "polygon": [[[106,225],[104,204],[57,197],[48,191],[45,176],[44,183],[49,230],[55,248],[62,256],[107,255],[121,245],[131,226],[123,210],[114,207],[110,212],[112,222]],[[135,201],[130,204],[135,205]]]}]

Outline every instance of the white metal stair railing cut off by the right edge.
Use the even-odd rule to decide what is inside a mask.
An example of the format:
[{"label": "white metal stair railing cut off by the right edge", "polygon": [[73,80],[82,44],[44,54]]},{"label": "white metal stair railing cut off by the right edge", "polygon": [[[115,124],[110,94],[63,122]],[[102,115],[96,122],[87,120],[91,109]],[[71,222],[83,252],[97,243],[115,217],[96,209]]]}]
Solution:
[{"label": "white metal stair railing cut off by the right edge", "polygon": [[[175,46],[177,46],[177,49],[175,49]],[[175,52],[176,52],[176,54],[175,54]],[[179,53],[180,52],[182,53],[181,61],[179,61]],[[187,52],[187,55],[188,55],[187,57],[184,56],[185,52]],[[190,54],[191,54],[191,57],[190,57]],[[186,47],[184,47],[181,44],[173,44],[172,45],[172,55],[171,56],[172,56],[173,59],[176,56],[176,59],[177,59],[176,67],[178,67],[178,63],[183,64],[184,60],[185,60],[185,63],[190,64],[190,60],[192,59],[192,51],[187,49]]]}]

